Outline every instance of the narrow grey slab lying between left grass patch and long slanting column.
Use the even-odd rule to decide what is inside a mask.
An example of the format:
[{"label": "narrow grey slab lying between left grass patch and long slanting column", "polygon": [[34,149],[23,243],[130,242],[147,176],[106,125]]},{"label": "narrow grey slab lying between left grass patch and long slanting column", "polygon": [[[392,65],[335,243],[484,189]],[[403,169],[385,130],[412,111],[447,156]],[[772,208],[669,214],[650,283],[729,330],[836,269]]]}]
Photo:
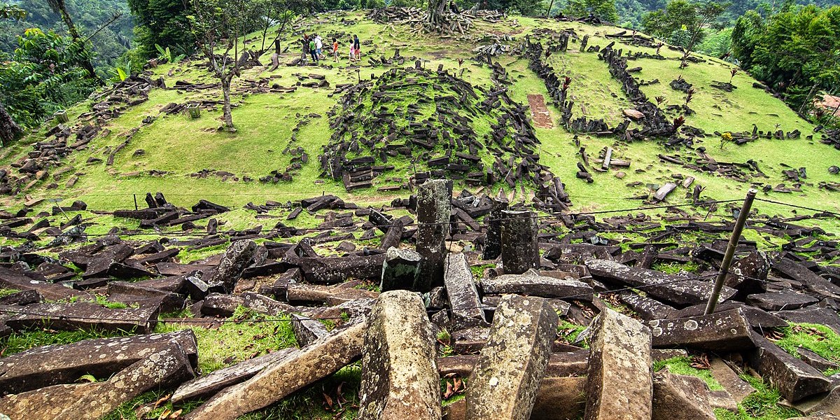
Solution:
[{"label": "narrow grey slab lying between left grass patch and long slanting column", "polygon": [[295,348],[277,350],[186,381],[172,393],[172,403],[181,404],[213,396],[228,386],[249,380],[270,365],[281,360],[294,359],[299,351]]}]

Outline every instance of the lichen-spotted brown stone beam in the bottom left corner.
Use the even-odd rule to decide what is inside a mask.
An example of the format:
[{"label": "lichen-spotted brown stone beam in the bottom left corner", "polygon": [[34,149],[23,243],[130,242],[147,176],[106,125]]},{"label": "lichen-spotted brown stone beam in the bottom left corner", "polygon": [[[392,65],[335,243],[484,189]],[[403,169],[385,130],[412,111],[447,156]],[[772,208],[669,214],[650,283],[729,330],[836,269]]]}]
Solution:
[{"label": "lichen-spotted brown stone beam in the bottom left corner", "polygon": [[156,386],[172,386],[195,376],[175,341],[121,370],[108,381],[55,385],[0,398],[0,412],[11,418],[54,420],[100,418]]}]

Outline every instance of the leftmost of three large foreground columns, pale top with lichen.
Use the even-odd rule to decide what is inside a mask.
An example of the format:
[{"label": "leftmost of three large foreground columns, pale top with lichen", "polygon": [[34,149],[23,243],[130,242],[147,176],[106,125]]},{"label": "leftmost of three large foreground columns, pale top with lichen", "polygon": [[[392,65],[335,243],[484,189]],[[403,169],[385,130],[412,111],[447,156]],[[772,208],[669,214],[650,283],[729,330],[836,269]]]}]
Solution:
[{"label": "leftmost of three large foreground columns, pale top with lichen", "polygon": [[386,291],[370,313],[362,346],[359,418],[441,417],[432,324],[411,291]]}]

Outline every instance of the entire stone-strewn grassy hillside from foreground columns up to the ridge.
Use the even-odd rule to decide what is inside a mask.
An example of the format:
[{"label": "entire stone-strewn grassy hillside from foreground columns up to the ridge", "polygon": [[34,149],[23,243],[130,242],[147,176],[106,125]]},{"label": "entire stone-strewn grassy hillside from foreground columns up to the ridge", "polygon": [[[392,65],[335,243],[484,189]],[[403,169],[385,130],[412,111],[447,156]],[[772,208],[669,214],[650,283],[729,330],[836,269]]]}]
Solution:
[{"label": "entire stone-strewn grassy hillside from foreground columns up to the ridge", "polygon": [[0,151],[0,414],[840,415],[837,132],[644,34],[400,13],[297,19],[235,132],[193,57]]}]

